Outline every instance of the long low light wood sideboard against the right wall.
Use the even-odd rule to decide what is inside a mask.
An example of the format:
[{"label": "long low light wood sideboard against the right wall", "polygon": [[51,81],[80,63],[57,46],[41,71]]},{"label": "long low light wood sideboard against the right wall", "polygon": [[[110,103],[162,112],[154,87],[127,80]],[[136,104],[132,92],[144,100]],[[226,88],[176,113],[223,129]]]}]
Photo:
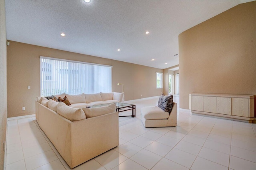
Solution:
[{"label": "long low light wood sideboard against the right wall", "polygon": [[256,120],[253,95],[192,93],[189,94],[189,109],[192,114],[248,123]]}]

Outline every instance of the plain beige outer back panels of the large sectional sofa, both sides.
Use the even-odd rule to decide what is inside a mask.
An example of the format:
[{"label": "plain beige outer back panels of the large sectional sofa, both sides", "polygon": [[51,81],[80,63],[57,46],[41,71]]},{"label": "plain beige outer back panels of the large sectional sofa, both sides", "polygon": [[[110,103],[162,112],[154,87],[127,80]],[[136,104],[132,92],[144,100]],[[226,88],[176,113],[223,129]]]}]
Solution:
[{"label": "plain beige outer back panels of the large sectional sofa, both sides", "polygon": [[118,112],[72,122],[36,101],[36,120],[70,168],[119,145]]}]

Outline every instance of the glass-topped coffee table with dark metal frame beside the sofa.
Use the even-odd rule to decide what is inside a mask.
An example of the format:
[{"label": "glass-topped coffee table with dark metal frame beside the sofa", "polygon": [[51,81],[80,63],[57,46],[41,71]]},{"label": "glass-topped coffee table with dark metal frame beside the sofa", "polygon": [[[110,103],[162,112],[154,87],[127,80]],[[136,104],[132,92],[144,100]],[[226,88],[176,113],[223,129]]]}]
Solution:
[{"label": "glass-topped coffee table with dark metal frame beside the sofa", "polygon": [[[99,104],[99,105],[87,106],[87,107],[96,108],[96,107],[108,106],[109,104],[111,104],[111,103]],[[119,116],[119,117],[128,117],[128,116],[136,117],[136,105],[116,102],[116,111],[122,112],[122,111],[128,111],[128,110],[132,110],[132,115],[124,115],[124,116]]]}]

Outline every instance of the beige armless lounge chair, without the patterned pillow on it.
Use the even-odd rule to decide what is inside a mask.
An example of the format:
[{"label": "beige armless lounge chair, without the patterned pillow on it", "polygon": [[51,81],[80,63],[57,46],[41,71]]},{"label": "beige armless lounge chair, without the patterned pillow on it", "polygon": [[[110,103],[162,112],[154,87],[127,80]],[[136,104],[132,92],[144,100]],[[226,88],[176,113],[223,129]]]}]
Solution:
[{"label": "beige armless lounge chair, without the patterned pillow on it", "polygon": [[177,104],[173,102],[172,111],[170,112],[170,114],[166,112],[169,114],[168,117],[164,112],[165,111],[157,106],[146,108],[143,107],[140,109],[141,121],[145,127],[177,126]]}]

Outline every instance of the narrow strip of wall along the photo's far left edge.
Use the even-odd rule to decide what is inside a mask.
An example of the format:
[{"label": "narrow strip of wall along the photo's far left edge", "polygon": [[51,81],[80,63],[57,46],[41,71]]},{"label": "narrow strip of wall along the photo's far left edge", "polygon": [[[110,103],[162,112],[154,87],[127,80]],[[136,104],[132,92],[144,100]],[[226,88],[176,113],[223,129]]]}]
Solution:
[{"label": "narrow strip of wall along the photo's far left edge", "polygon": [[7,123],[5,1],[0,0],[0,170],[4,169],[4,144]]}]

